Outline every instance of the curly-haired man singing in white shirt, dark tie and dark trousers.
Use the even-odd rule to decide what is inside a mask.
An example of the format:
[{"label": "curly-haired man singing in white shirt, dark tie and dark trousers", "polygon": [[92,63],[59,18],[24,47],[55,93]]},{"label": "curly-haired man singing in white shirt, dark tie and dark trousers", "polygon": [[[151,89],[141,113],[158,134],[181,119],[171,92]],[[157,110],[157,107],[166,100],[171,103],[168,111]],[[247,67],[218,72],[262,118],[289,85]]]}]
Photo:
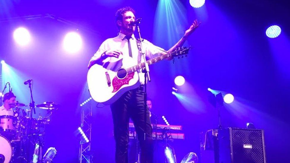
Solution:
[{"label": "curly-haired man singing in white shirt, dark tie and dark trousers", "polygon": [[[116,26],[119,30],[118,36],[106,39],[89,61],[88,68],[94,64],[106,64],[110,69],[130,67],[142,62],[140,60],[135,31],[135,11],[131,7],[124,7],[116,12]],[[147,40],[142,41],[142,48],[146,58],[166,54],[181,47],[187,37],[198,27],[197,20],[193,22],[184,36],[168,51],[156,47]],[[121,64],[120,64],[121,61]],[[144,62],[144,61],[143,61]],[[149,110],[146,109],[146,128],[144,116],[144,73],[138,71],[140,86],[125,92],[116,102],[111,104],[114,123],[114,138],[116,141],[115,160],[117,163],[128,162],[128,127],[129,118],[132,119],[138,140],[141,146],[141,162],[153,162],[152,126]],[[145,140],[144,140],[145,132]]]}]

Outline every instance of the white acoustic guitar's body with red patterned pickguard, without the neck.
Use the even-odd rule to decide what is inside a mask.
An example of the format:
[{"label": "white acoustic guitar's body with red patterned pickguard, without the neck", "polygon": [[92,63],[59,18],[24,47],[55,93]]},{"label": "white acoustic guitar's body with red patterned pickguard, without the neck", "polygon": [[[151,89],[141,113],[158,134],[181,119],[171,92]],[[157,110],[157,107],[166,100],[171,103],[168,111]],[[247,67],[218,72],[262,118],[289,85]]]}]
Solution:
[{"label": "white acoustic guitar's body with red patterned pickguard, without the neck", "polygon": [[89,69],[87,81],[92,99],[105,105],[112,104],[126,91],[140,85],[137,72],[128,74],[125,68],[120,68],[114,72],[99,64],[94,64]]}]

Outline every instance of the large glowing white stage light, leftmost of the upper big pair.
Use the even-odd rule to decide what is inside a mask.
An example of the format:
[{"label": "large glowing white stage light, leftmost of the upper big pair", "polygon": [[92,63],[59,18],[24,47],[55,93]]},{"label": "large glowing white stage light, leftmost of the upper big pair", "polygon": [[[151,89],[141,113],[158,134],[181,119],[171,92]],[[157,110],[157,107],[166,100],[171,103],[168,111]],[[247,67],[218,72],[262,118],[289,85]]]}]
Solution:
[{"label": "large glowing white stage light, leftmost of the upper big pair", "polygon": [[13,38],[21,46],[25,46],[31,41],[29,31],[23,27],[20,27],[14,31]]}]

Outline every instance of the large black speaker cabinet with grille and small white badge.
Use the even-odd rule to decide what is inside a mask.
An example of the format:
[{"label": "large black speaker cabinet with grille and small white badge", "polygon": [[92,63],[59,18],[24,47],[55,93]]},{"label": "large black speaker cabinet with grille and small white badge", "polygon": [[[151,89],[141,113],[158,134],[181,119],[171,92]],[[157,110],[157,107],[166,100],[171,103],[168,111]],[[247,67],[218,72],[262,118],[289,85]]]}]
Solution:
[{"label": "large black speaker cabinet with grille and small white badge", "polygon": [[220,163],[266,163],[264,130],[220,129],[218,140]]}]

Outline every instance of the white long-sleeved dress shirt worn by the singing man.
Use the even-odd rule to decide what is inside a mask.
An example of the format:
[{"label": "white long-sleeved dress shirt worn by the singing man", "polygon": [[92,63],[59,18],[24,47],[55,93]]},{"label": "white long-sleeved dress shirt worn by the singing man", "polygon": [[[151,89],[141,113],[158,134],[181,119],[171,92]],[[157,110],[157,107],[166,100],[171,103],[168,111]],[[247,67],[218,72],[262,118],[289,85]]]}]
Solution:
[{"label": "white long-sleeved dress shirt worn by the singing man", "polygon": [[[128,40],[125,38],[126,35],[119,33],[117,37],[106,39],[100,46],[100,48],[97,50],[97,52],[94,54],[94,56],[91,59],[100,58],[100,56],[108,50],[119,50],[123,53],[123,55],[120,55],[119,58],[115,57],[108,57],[105,60],[103,60],[103,66],[107,69],[110,69],[112,71],[117,71],[119,68],[129,68],[132,66],[135,66],[138,64],[138,56],[141,55],[141,53],[138,53],[138,47],[137,47],[137,40],[132,35],[132,38],[130,39],[130,45],[132,50],[132,57],[129,56],[129,48],[128,48]],[[153,45],[151,42],[144,39],[142,41],[142,48],[146,55],[147,59],[155,58],[161,54],[164,54],[165,50]],[[143,57],[141,57],[141,62],[144,62]],[[141,84],[144,84],[144,73],[141,71],[138,71],[139,75],[139,82]]]}]

